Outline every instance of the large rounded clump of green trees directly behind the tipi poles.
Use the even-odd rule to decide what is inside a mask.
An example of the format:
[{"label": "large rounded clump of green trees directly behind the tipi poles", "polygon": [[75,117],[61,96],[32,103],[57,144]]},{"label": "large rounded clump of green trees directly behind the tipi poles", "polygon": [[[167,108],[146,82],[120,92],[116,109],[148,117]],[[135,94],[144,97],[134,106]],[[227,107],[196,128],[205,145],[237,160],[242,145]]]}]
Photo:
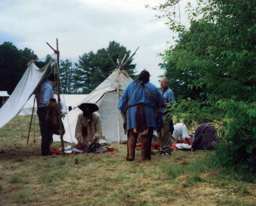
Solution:
[{"label": "large rounded clump of green trees directly behind the tipi poles", "polygon": [[[115,41],[109,42],[108,48],[102,48],[96,53],[92,51],[84,53],[83,56],[79,56],[76,64],[77,69],[74,74],[76,83],[74,87],[81,88],[83,93],[90,93],[114,71],[116,65],[118,65],[118,59],[122,60],[125,56],[124,61],[126,61],[130,54],[130,50],[120,46]],[[133,58],[127,62],[123,69],[133,78],[136,64],[132,64],[132,61]]]}]

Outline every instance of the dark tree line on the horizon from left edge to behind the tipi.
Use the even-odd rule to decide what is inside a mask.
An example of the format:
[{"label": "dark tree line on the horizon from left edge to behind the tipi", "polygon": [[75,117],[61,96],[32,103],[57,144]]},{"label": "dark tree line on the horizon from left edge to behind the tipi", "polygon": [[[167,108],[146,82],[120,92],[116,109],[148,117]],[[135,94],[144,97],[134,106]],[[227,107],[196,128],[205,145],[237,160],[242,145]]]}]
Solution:
[{"label": "dark tree line on the horizon from left edge to behind the tipi", "polygon": [[[89,94],[111,74],[116,68],[114,64],[117,65],[117,61],[122,59],[125,54],[125,60],[127,60],[131,51],[120,45],[120,43],[111,41],[107,48],[99,49],[97,52],[85,52],[78,57],[77,61],[72,59],[60,60],[61,90],[64,94]],[[21,50],[13,45],[12,42],[4,42],[0,45],[0,59],[0,90],[11,94],[27,68],[28,59],[32,59],[32,50],[29,48]],[[48,54],[44,59],[40,60],[35,54],[34,59],[39,68],[49,61],[52,62],[44,80],[47,79],[51,72],[57,71],[54,56]],[[132,61],[133,58],[129,60],[123,69],[134,78],[136,64],[133,64]]]}]

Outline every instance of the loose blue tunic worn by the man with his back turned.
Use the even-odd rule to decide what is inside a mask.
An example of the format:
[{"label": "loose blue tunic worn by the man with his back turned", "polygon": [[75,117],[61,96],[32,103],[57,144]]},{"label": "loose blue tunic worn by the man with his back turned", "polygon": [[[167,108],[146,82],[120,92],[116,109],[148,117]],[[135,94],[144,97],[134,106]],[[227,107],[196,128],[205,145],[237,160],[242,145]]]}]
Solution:
[{"label": "loose blue tunic worn by the man with his back turned", "polygon": [[[122,112],[127,110],[128,101],[135,91],[135,89],[141,84],[141,82],[130,82],[124,89],[121,100],[118,104],[118,109]],[[164,97],[156,88],[155,85],[150,82],[144,84],[144,87],[147,87],[149,93],[154,98],[156,107],[162,108],[164,105]],[[144,103],[145,112],[146,112],[146,121],[148,127],[156,128],[156,112],[154,110],[154,103],[151,97],[148,95],[147,90],[140,86],[132,95],[129,105],[136,105],[139,103]],[[127,126],[126,129],[136,128],[136,106],[130,107],[126,112],[127,117]]]}]

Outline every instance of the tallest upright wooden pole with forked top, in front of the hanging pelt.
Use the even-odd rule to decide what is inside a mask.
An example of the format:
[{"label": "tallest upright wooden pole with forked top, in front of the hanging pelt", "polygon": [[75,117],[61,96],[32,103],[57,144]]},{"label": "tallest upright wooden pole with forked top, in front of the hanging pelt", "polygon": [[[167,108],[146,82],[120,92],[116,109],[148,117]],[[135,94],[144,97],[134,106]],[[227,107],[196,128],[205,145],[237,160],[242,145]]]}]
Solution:
[{"label": "tallest upright wooden pole with forked top, in front of the hanging pelt", "polygon": [[[46,42],[47,43],[47,42]],[[58,45],[58,38],[56,38],[56,48],[57,50],[53,49],[52,46],[47,43],[47,45],[54,51],[54,53],[57,55],[57,95],[58,95],[58,106],[59,106],[59,126],[60,126],[60,142],[61,142],[61,154],[65,156],[64,152],[64,141],[63,141],[63,130],[61,125],[61,111],[60,111],[60,86],[59,86],[59,80],[60,80],[60,51],[59,51],[59,45]]]}]

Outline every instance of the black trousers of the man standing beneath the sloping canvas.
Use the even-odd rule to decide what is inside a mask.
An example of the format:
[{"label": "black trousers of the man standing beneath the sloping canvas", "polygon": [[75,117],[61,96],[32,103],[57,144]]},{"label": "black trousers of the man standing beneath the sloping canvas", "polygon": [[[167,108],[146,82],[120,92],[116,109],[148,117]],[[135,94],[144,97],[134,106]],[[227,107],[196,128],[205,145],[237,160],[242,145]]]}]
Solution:
[{"label": "black trousers of the man standing beneath the sloping canvas", "polygon": [[39,118],[39,126],[40,132],[42,136],[42,143],[41,143],[41,154],[48,155],[50,151],[50,146],[52,142],[52,131],[50,127],[47,125],[45,120],[47,112],[47,107],[37,108],[37,115]]}]

